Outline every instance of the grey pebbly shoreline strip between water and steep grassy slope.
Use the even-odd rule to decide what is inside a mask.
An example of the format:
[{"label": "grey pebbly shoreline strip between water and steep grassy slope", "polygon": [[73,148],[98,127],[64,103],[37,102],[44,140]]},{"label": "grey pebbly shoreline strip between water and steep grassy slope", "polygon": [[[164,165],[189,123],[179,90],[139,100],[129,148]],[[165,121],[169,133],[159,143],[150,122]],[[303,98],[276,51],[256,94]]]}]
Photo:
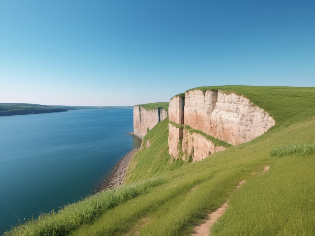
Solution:
[{"label": "grey pebbly shoreline strip between water and steep grassy slope", "polygon": [[125,182],[125,177],[126,177],[129,163],[139,149],[140,148],[135,148],[131,150],[120,161],[118,161],[117,164],[114,166],[114,169],[112,170],[110,175],[102,180],[102,183],[95,190],[94,193],[98,193],[109,188],[117,188],[121,186]]}]

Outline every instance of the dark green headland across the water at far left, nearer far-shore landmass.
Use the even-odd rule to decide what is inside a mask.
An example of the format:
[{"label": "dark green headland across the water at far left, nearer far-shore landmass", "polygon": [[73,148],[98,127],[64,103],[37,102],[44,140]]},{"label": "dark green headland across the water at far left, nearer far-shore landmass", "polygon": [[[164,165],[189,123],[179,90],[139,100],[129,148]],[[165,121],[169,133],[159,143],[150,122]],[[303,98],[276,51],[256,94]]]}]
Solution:
[{"label": "dark green headland across the water at far left, nearer far-shore landmass", "polygon": [[28,103],[0,103],[0,116],[67,111],[64,108]]}]

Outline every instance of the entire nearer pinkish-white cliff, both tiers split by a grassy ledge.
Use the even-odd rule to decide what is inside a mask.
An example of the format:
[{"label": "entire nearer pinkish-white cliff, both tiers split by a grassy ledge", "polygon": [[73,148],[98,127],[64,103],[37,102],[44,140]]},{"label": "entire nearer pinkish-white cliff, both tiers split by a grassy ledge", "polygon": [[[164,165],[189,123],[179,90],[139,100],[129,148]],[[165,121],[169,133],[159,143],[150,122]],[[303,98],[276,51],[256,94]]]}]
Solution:
[{"label": "entire nearer pinkish-white cliff, both tiers split by a grassy ledge", "polygon": [[[180,150],[175,150],[181,142],[183,153],[192,155],[194,161],[225,149],[222,145],[215,145],[206,135],[238,145],[262,135],[275,124],[265,110],[252,104],[248,98],[221,90],[205,93],[191,90],[185,93],[185,97],[175,96],[169,103],[169,120],[179,125],[177,128],[171,123],[169,125],[169,154],[182,158]],[[183,125],[205,135],[191,133]]]}]

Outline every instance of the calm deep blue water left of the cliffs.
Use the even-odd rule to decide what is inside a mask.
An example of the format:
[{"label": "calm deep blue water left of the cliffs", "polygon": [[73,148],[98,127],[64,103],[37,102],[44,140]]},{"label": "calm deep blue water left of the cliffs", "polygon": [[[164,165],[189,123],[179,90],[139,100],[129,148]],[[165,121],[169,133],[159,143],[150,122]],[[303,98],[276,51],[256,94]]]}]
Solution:
[{"label": "calm deep blue water left of the cliffs", "polygon": [[140,146],[133,110],[0,117],[0,232],[92,194]]}]

